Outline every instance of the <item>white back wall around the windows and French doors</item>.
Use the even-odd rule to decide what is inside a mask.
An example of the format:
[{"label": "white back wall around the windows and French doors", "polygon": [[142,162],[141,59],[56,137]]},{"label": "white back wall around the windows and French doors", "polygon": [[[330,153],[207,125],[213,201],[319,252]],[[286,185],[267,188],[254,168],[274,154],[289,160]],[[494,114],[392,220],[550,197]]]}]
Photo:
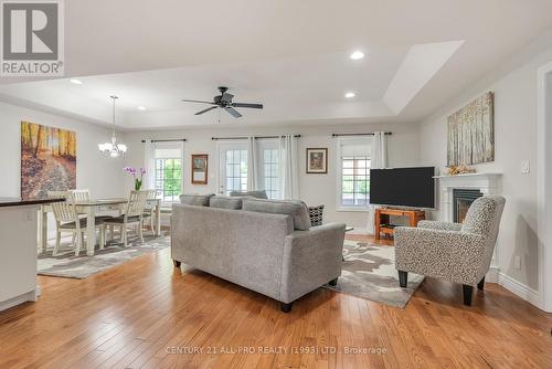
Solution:
[{"label": "white back wall around the windows and French doors", "polygon": [[[240,125],[236,122],[236,125]],[[204,128],[187,129],[181,131],[140,131],[128,133],[126,144],[129,146],[127,165],[140,167],[144,162],[144,144],[141,139],[171,139],[187,138],[184,143],[184,192],[216,193],[217,191],[217,158],[216,141],[212,136],[233,137],[244,135],[283,135],[300,134],[299,138],[299,187],[301,199],[309,205],[325,204],[325,221],[339,221],[355,228],[368,226],[369,214],[367,212],[341,212],[337,211],[337,178],[336,178],[336,143],[331,137],[332,133],[370,133],[374,130],[389,130],[393,135],[389,136],[389,165],[391,167],[415,166],[420,159],[420,137],[416,124],[365,124],[347,126],[274,126],[274,127],[234,127],[234,128]],[[328,175],[307,175],[306,148],[327,147],[328,148]],[[191,184],[190,160],[192,154],[209,155],[209,184]],[[127,189],[132,182],[126,181]]]}]

